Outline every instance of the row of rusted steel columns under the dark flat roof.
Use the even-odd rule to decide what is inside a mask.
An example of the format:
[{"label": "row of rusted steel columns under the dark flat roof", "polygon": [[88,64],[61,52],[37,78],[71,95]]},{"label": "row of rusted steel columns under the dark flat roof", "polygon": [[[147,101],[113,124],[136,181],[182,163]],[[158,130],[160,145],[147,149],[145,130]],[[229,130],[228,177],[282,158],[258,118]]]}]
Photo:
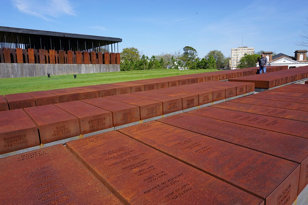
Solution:
[{"label": "row of rusted steel columns under the dark flat roof", "polygon": [[120,53],[0,48],[0,63],[120,64]]}]

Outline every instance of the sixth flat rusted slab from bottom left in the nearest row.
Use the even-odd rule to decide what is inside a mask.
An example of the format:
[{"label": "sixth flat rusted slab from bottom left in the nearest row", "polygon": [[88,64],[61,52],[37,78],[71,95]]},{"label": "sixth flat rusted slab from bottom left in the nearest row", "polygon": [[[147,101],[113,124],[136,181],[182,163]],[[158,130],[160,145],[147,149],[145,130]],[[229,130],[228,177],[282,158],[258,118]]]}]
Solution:
[{"label": "sixth flat rusted slab from bottom left in the nearest row", "polygon": [[271,108],[268,106],[248,105],[237,102],[223,102],[217,105],[212,105],[211,107],[308,122],[308,114],[305,111],[300,110],[289,110],[276,107]]}]

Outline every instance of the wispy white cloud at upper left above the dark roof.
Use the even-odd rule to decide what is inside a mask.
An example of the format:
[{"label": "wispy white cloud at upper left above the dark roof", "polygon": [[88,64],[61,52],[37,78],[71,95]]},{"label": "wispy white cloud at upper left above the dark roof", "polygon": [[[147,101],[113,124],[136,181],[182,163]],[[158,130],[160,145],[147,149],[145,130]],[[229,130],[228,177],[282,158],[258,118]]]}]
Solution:
[{"label": "wispy white cloud at upper left above the dark roof", "polygon": [[46,21],[61,15],[76,15],[68,0],[12,0],[12,3],[20,12]]}]

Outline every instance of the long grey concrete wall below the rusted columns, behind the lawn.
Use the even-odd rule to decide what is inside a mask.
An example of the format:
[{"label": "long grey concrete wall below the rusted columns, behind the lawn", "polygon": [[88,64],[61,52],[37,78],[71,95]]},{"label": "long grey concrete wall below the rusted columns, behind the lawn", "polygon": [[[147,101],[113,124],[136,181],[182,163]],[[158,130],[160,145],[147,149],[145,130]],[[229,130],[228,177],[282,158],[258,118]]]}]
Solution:
[{"label": "long grey concrete wall below the rusted columns, behind the lawn", "polygon": [[0,78],[19,78],[120,71],[119,64],[19,64],[0,63]]}]

